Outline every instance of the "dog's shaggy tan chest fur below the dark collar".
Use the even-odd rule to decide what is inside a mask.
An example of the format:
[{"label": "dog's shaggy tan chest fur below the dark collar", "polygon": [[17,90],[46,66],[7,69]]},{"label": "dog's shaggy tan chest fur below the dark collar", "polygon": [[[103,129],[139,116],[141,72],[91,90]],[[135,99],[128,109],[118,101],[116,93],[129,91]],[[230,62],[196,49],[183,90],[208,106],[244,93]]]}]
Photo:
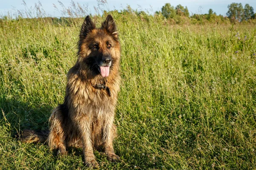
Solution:
[{"label": "dog's shaggy tan chest fur below the dark collar", "polygon": [[112,115],[119,91],[118,82],[107,82],[111,91],[111,96],[109,96],[106,90],[93,88],[93,84],[102,81],[81,79],[80,77],[76,74],[69,76],[68,90],[66,91],[69,108],[73,108],[76,114],[85,114],[96,119]]}]

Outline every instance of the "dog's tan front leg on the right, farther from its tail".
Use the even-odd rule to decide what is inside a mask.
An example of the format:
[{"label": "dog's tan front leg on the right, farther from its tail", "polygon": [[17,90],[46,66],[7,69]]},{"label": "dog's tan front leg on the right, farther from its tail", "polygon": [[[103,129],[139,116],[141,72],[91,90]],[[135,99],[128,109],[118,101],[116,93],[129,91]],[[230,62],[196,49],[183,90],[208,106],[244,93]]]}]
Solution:
[{"label": "dog's tan front leg on the right, farther from its tail", "polygon": [[113,139],[116,136],[116,126],[113,124],[113,116],[110,116],[103,127],[102,141],[105,153],[109,161],[120,161],[119,156],[114,152]]}]

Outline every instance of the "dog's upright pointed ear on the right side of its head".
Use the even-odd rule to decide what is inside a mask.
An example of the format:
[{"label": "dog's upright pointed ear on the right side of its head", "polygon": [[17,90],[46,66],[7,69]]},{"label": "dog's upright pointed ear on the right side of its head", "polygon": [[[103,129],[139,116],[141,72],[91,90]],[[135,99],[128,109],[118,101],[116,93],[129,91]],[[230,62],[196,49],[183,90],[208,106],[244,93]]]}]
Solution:
[{"label": "dog's upright pointed ear on the right side of its head", "polygon": [[101,29],[105,29],[108,33],[114,38],[118,38],[118,31],[116,28],[116,23],[113,20],[113,17],[108,14],[106,20],[102,23]]}]

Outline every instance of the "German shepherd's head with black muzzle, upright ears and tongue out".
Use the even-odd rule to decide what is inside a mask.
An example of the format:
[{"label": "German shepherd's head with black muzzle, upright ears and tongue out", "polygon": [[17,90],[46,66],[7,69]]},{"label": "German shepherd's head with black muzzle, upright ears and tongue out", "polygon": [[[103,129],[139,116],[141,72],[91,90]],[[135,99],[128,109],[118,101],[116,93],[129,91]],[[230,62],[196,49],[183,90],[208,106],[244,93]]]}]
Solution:
[{"label": "German shepherd's head with black muzzle, upright ears and tongue out", "polygon": [[111,15],[107,16],[101,28],[96,28],[90,16],[87,16],[81,27],[78,45],[82,69],[108,77],[115,65],[119,65],[120,44]]}]

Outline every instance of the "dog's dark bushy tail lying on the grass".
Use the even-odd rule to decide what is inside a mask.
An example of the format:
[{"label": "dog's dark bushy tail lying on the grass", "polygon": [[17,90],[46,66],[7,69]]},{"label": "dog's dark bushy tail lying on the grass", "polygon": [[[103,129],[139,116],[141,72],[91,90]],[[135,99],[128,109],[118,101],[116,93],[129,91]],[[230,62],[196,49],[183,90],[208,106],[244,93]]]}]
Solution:
[{"label": "dog's dark bushy tail lying on the grass", "polygon": [[44,143],[47,141],[49,136],[49,130],[23,130],[23,132],[18,136],[22,142],[25,143]]}]

